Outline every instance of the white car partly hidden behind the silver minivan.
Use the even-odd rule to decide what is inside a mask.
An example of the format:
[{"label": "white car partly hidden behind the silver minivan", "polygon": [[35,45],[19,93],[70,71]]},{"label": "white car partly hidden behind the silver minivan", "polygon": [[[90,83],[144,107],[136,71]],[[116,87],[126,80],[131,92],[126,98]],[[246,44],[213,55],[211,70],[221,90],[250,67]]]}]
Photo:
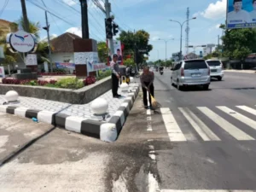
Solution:
[{"label": "white car partly hidden behind the silver minivan", "polygon": [[224,78],[222,62],[219,60],[207,60],[207,64],[211,69],[211,78],[221,81]]}]

